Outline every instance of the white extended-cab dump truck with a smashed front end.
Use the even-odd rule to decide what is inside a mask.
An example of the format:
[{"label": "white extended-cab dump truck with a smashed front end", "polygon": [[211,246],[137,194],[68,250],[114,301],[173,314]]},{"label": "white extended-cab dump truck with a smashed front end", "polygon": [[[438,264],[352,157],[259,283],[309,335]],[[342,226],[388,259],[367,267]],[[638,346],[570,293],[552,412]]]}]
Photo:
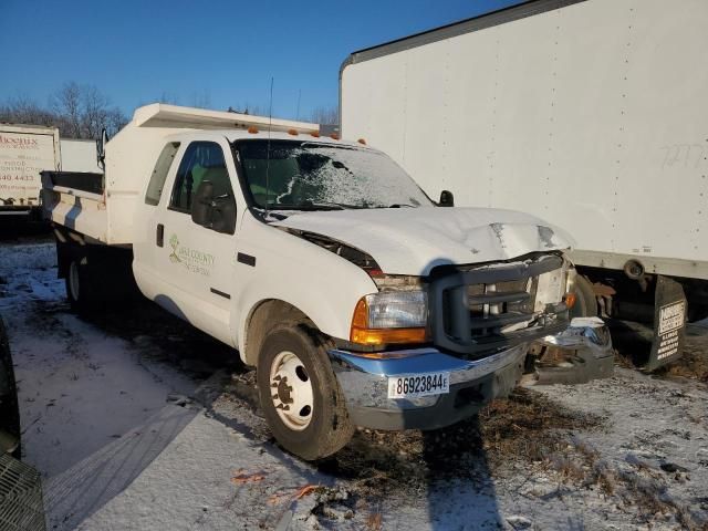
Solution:
[{"label": "white extended-cab dump truck with a smashed front end", "polygon": [[305,459],[354,426],[434,429],[521,376],[529,344],[612,372],[602,323],[569,327],[570,240],[524,214],[447,208],[364,139],[154,104],[105,175],[43,174],[77,309],[121,284],[257,367],[278,441]]}]

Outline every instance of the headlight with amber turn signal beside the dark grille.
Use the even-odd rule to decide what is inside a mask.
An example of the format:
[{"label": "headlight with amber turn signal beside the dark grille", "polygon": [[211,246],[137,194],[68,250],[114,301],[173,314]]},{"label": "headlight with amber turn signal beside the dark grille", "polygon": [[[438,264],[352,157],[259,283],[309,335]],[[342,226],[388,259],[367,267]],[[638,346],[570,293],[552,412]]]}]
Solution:
[{"label": "headlight with amber turn signal beside the dark grille", "polygon": [[364,345],[425,342],[428,296],[425,291],[387,291],[360,299],[350,341]]}]

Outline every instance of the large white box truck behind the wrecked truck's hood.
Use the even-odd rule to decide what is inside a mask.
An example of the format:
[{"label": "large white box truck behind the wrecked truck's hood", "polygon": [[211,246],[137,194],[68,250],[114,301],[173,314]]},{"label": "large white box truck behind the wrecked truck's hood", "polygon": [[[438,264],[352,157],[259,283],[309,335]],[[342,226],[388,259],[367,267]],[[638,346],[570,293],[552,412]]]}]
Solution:
[{"label": "large white box truck behind the wrecked truck's hood", "polygon": [[352,53],[342,133],[428,194],[565,228],[586,313],[650,315],[666,277],[702,319],[706,28],[705,0],[524,2]]}]

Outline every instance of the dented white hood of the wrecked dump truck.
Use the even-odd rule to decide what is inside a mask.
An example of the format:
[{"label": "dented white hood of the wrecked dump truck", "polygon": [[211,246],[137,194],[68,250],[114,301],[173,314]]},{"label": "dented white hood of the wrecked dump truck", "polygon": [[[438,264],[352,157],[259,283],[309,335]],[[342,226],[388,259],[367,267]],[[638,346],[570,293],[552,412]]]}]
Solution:
[{"label": "dented white hood of the wrecked dump truck", "polygon": [[372,256],[388,274],[427,275],[437,266],[510,260],[570,249],[562,230],[528,214],[491,208],[385,208],[302,212],[273,222]]}]

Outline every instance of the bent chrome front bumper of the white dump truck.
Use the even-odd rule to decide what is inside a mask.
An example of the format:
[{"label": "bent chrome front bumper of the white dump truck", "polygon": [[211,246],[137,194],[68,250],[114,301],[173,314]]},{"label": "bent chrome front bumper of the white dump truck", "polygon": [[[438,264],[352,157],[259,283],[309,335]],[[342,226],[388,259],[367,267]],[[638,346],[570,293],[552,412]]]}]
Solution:
[{"label": "bent chrome front bumper of the white dump truck", "polygon": [[[612,342],[602,321],[597,324],[573,320],[566,331],[539,343],[552,345],[570,357],[593,361],[583,367],[596,366],[600,361],[601,369],[592,372],[593,377],[612,374]],[[394,351],[383,358],[340,348],[329,351],[329,355],[355,425],[375,429],[436,429],[470,417],[493,398],[508,395],[521,378],[528,352],[529,345],[520,344],[472,361],[431,347]],[[388,398],[389,377],[438,372],[449,373],[449,393]]]}]

